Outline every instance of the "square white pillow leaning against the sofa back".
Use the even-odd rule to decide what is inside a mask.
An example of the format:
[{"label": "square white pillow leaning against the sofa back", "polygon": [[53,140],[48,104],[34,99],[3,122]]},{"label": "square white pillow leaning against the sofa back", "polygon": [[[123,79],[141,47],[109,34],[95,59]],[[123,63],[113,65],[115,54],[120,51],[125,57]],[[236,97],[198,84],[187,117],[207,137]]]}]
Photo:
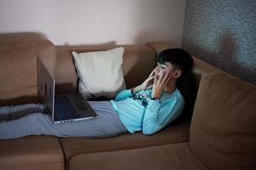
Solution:
[{"label": "square white pillow leaning against the sofa back", "polygon": [[[114,98],[126,88],[122,64],[124,48],[88,53],[72,52],[79,75],[79,92],[85,99]],[[93,94],[93,95],[92,95]]]}]

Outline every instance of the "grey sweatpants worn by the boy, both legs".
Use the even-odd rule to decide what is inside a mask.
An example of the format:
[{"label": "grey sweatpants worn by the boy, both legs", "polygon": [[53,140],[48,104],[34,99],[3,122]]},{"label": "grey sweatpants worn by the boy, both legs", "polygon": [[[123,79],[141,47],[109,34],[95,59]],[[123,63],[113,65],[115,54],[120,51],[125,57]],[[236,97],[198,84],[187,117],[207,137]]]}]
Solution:
[{"label": "grey sweatpants worn by the boy, both legs", "polygon": [[44,106],[40,104],[0,107],[0,139],[28,135],[107,138],[128,132],[109,101],[88,102],[96,111],[96,118],[59,124],[51,122],[49,116],[42,113]]}]

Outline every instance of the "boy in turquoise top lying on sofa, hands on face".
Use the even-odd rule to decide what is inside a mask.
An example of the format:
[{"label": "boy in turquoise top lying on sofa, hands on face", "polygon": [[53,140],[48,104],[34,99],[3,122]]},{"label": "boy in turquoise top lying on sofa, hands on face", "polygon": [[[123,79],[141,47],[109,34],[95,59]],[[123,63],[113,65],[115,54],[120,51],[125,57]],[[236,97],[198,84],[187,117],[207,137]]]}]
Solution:
[{"label": "boy in turquoise top lying on sofa, hands on face", "polygon": [[[142,131],[149,135],[177,119],[185,99],[177,87],[190,72],[192,57],[183,49],[166,49],[158,54],[158,65],[135,88],[121,91],[110,101],[89,101],[97,117],[79,122],[55,124],[44,115],[40,104],[0,107],[0,139],[28,135],[58,137],[110,137]],[[185,82],[183,82],[185,83]]]}]

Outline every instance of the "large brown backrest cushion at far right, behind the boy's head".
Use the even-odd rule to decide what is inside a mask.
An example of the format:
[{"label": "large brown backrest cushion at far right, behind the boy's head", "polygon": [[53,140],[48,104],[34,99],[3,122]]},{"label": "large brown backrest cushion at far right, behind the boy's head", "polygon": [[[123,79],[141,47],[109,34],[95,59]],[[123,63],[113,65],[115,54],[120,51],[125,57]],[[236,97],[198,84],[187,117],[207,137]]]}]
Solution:
[{"label": "large brown backrest cushion at far right, behind the boy's head", "polygon": [[211,169],[255,169],[255,86],[224,73],[203,76],[189,144]]}]

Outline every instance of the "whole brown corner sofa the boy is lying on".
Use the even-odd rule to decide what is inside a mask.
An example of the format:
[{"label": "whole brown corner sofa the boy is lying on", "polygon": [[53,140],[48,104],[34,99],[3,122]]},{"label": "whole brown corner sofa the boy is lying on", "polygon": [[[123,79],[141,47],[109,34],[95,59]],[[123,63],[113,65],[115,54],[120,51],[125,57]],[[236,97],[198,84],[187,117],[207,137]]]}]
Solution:
[{"label": "whole brown corner sofa the boy is lying on", "polygon": [[[114,47],[54,46],[37,36],[0,35],[0,105],[39,102],[38,57],[55,74],[56,92],[67,93],[78,89],[72,50]],[[151,42],[124,47],[123,71],[131,88],[152,71],[156,53],[170,46]],[[191,126],[190,121],[171,124],[150,136],[0,140],[0,169],[255,169],[255,86],[194,59],[198,94]]]}]

